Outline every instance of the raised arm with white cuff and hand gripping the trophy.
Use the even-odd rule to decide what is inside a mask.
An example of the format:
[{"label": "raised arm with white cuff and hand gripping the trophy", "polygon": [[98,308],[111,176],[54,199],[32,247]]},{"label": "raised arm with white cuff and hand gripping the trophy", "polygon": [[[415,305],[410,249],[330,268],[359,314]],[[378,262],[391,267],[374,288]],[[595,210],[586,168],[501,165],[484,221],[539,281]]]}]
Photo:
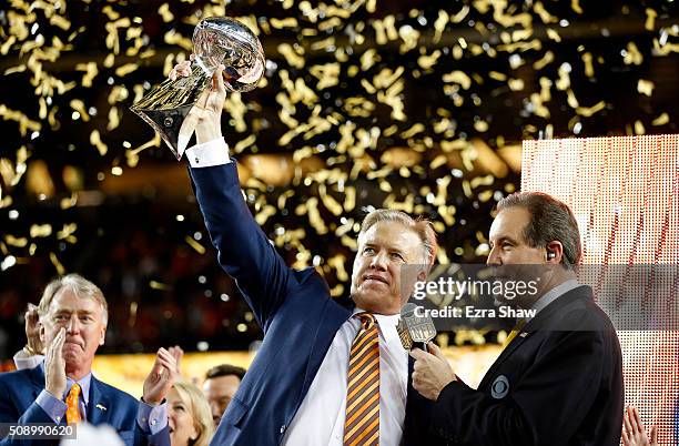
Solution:
[{"label": "raised arm with white cuff and hand gripping the trophy", "polygon": [[[264,235],[247,209],[235,162],[229,159],[221,131],[226,91],[222,69],[196,107],[193,119],[197,145],[189,149],[190,174],[220,265],[243,292],[260,325],[267,330],[271,316],[288,294],[292,270]],[[230,70],[225,70],[229,72]],[[184,74],[186,64],[171,75]],[[230,79],[229,75],[227,81]]]}]

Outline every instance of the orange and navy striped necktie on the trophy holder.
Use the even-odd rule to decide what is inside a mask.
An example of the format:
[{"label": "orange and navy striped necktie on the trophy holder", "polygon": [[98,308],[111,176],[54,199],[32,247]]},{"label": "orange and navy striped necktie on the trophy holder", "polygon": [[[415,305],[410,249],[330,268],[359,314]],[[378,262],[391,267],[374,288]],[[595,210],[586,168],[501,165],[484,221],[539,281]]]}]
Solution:
[{"label": "orange and navy striped necktie on the trophy holder", "polygon": [[371,313],[354,315],[361,330],[349,354],[344,446],[379,444],[379,336]]}]

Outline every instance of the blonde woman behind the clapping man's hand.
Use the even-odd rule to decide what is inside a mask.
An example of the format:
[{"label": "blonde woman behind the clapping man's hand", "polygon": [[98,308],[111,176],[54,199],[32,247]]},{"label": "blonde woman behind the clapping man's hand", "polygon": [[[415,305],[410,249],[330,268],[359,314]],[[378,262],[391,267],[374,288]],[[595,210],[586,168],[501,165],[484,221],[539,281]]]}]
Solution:
[{"label": "blonde woman behind the clapping man's hand", "polygon": [[168,424],[172,446],[207,446],[214,434],[210,405],[203,393],[185,381],[168,394]]}]

